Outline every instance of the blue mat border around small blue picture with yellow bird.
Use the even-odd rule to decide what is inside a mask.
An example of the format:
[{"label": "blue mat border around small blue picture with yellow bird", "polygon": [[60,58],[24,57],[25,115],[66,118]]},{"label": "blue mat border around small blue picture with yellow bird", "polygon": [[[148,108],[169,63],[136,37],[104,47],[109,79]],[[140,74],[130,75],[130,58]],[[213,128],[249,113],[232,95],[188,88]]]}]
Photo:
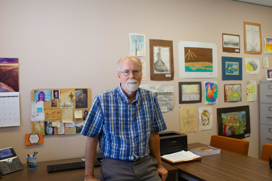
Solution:
[{"label": "blue mat border around small blue picture with yellow bird", "polygon": [[[232,58],[232,60],[227,60]],[[226,57],[222,56],[222,80],[243,80],[242,58],[240,57]],[[226,74],[226,62],[238,62],[239,63],[239,75],[227,75]]]}]

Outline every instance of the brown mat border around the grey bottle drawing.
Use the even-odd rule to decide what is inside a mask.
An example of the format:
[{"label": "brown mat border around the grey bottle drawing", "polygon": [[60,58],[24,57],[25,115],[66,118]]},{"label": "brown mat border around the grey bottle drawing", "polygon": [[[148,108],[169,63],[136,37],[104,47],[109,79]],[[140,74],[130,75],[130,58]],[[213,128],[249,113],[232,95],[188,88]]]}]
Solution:
[{"label": "brown mat border around the grey bottle drawing", "polygon": [[[154,46],[169,47],[170,73],[154,73]],[[151,81],[172,81],[174,80],[174,59],[173,59],[173,41],[172,40],[149,40],[149,58],[150,58],[150,80]]]}]

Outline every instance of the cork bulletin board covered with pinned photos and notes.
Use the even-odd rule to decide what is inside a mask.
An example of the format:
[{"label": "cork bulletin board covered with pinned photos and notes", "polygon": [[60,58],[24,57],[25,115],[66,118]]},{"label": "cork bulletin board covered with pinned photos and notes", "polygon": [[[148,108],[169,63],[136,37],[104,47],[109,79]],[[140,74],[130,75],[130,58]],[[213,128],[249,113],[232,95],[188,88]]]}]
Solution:
[{"label": "cork bulletin board covered with pinned photos and notes", "polygon": [[[40,107],[34,107],[36,103],[42,105],[42,102],[38,100],[40,91],[45,93],[45,101],[42,101],[43,112],[41,112]],[[57,95],[55,94],[56,91],[58,92],[58,94],[56,93]],[[63,100],[63,103],[61,103],[61,100]],[[71,135],[79,133],[90,107],[91,90],[89,88],[33,89],[31,90],[32,133],[42,132],[43,135]],[[44,120],[32,120],[32,116],[35,117],[39,114],[33,113],[35,109],[39,109],[40,113],[44,114]],[[68,114],[67,111],[69,111]],[[84,112],[86,112],[85,115]]]}]

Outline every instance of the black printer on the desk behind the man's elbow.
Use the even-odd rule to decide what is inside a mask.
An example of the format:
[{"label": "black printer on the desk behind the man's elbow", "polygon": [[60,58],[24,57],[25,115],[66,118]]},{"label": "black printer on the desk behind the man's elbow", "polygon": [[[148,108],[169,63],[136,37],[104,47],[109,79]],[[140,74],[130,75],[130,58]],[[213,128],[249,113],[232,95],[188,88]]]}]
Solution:
[{"label": "black printer on the desk behind the man's elbow", "polygon": [[160,156],[187,151],[187,135],[175,131],[159,132],[160,135]]}]

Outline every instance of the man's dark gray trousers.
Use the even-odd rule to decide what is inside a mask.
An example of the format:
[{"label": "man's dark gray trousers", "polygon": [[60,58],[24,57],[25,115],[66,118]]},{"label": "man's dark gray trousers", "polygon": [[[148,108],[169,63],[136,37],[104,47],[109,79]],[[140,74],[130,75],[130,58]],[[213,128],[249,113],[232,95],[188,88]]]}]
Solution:
[{"label": "man's dark gray trousers", "polygon": [[137,161],[104,157],[101,176],[103,181],[161,181],[157,167],[158,161],[150,155]]}]

